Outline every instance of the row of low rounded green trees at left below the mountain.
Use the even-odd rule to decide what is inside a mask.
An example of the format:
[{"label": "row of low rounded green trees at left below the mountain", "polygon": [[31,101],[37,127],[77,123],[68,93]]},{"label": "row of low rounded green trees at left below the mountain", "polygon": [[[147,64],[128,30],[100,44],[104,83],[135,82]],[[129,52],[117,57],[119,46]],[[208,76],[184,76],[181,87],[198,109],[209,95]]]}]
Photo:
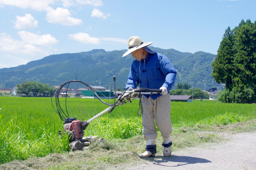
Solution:
[{"label": "row of low rounded green trees at left below the mountain", "polygon": [[52,96],[55,91],[55,87],[49,87],[49,84],[42,84],[36,81],[25,81],[23,84],[17,84],[17,87],[16,92],[18,94],[25,94],[26,96],[29,96],[30,92],[32,92],[34,96],[36,96],[37,93],[43,93],[43,97],[48,95]]}]

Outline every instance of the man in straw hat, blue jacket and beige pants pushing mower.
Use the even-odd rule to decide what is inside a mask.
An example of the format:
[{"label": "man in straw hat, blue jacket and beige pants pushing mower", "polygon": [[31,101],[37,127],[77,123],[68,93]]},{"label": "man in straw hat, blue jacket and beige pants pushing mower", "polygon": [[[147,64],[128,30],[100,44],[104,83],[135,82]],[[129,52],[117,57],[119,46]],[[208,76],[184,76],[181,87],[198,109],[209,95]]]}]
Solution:
[{"label": "man in straw hat, blue jacket and beige pants pushing mower", "polygon": [[[132,53],[133,61],[126,84],[127,89],[149,88],[161,89],[159,94],[142,96],[142,134],[146,139],[146,151],[140,157],[155,157],[156,125],[163,136],[164,156],[170,156],[172,123],[170,117],[171,100],[169,91],[174,85],[176,71],[170,60],[162,54],[148,48],[152,42],[143,43],[140,37],[133,36],[128,40],[129,50],[123,55]],[[154,122],[155,119],[155,122]]]}]

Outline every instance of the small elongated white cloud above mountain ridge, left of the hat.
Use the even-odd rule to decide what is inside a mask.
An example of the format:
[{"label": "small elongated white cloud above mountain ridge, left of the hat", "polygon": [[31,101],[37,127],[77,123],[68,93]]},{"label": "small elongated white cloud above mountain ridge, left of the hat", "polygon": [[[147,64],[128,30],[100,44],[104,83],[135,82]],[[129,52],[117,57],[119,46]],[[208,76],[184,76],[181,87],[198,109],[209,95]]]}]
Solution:
[{"label": "small elongated white cloud above mountain ridge, left of the hat", "polygon": [[68,35],[71,40],[77,40],[84,44],[100,44],[100,40],[96,37],[90,37],[87,33],[75,33]]}]

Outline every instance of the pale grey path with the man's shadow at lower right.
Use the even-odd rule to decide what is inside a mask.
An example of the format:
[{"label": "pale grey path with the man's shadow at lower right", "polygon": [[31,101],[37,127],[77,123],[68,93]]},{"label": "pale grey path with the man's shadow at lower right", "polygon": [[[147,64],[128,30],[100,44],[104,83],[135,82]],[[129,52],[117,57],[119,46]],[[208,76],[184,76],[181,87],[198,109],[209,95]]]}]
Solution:
[{"label": "pale grey path with the man's shadow at lower right", "polygon": [[219,145],[176,151],[169,158],[156,156],[148,164],[127,170],[256,170],[256,133],[239,133],[229,138]]}]

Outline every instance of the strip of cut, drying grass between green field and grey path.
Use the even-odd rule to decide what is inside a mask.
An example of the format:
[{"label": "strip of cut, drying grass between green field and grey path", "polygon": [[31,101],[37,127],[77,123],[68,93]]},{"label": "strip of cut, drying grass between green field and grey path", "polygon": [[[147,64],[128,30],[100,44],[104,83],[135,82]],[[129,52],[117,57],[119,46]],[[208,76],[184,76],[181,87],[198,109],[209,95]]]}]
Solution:
[{"label": "strip of cut, drying grass between green field and grey path", "polygon": [[[226,115],[230,117],[233,116]],[[218,120],[219,117],[213,119]],[[193,147],[205,143],[219,143],[225,140],[219,132],[240,133],[256,132],[256,119],[244,122],[228,123],[227,125],[215,123],[203,124],[198,122],[195,126],[177,126],[172,133],[172,150]],[[208,120],[209,121],[209,120]],[[203,122],[207,122],[204,120]],[[145,140],[142,136],[129,139],[111,139],[92,142],[84,151],[52,153],[42,158],[28,158],[24,161],[12,161],[0,166],[1,170],[46,169],[46,170],[98,170],[98,169],[124,169],[154,159],[162,158],[162,137],[157,137],[157,150],[155,158],[141,159],[138,154],[144,152]]]}]

